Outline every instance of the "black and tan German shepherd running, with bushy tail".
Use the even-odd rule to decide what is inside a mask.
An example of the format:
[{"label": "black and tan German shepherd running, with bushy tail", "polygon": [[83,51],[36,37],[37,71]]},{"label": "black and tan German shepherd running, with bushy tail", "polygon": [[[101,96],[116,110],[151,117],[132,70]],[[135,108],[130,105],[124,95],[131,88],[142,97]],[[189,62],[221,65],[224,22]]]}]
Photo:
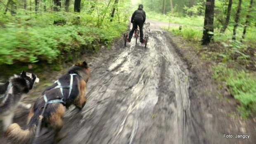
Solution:
[{"label": "black and tan German shepherd running, with bushy tail", "polygon": [[[63,86],[69,86],[71,81],[71,75],[73,75],[73,85],[71,93],[69,92],[69,88],[63,88],[63,96],[60,88],[55,88],[58,86],[57,83],[54,83],[52,86],[49,86],[45,89],[42,95],[47,96],[47,100],[57,100],[62,99],[62,102],[49,103],[45,107],[45,111],[43,113],[41,130],[51,130],[54,131],[54,139],[52,141],[56,142],[57,134],[63,127],[64,123],[62,121],[63,116],[65,114],[66,108],[69,108],[71,105],[75,105],[78,109],[82,109],[85,106],[87,98],[85,97],[86,92],[86,83],[90,77],[90,67],[88,67],[87,63],[84,61],[83,63],[76,63],[68,72],[62,77],[59,78],[59,82]],[[70,93],[70,96],[69,96]],[[42,97],[38,98],[30,111],[28,116],[28,129],[21,130],[20,126],[17,123],[10,125],[6,132],[5,137],[8,142],[15,144],[29,144],[33,141],[35,137],[35,130],[38,126],[38,121],[40,118],[40,114],[43,111],[43,107],[45,105],[45,100]],[[52,134],[50,135],[52,138]],[[41,138],[40,138],[41,139]],[[37,142],[43,143],[43,142]],[[52,142],[47,142],[47,144]]]}]

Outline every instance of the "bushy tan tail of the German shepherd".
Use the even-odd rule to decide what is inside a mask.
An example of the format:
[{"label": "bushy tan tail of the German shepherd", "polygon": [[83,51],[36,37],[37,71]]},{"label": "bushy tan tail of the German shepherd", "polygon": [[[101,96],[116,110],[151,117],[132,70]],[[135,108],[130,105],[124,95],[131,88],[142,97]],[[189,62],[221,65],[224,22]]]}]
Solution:
[{"label": "bushy tan tail of the German shepherd", "polygon": [[5,131],[5,137],[7,141],[11,143],[28,144],[32,142],[35,132],[36,125],[33,125],[26,130],[22,130],[17,123],[13,123]]}]

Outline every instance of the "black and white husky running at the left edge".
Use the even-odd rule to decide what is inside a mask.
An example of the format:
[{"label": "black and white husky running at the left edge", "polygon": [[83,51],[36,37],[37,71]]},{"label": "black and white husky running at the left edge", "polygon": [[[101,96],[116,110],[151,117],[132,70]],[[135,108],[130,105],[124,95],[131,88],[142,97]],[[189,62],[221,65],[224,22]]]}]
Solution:
[{"label": "black and white husky running at the left edge", "polygon": [[10,77],[5,84],[0,83],[0,119],[3,122],[3,130],[12,124],[17,107],[30,109],[31,104],[26,105],[21,100],[38,82],[36,74],[22,71]]}]

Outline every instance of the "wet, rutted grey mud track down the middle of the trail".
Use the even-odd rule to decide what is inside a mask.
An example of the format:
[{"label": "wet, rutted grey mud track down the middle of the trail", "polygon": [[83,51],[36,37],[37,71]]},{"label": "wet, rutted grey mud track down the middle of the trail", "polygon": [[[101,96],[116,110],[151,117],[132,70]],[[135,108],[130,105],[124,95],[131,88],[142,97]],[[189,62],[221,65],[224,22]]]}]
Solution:
[{"label": "wet, rutted grey mud track down the middle of the trail", "polygon": [[132,40],[111,63],[92,68],[88,102],[66,114],[69,134],[59,143],[205,143],[197,130],[203,123],[193,118],[200,115],[190,109],[188,72],[170,46],[153,32],[148,49]]}]

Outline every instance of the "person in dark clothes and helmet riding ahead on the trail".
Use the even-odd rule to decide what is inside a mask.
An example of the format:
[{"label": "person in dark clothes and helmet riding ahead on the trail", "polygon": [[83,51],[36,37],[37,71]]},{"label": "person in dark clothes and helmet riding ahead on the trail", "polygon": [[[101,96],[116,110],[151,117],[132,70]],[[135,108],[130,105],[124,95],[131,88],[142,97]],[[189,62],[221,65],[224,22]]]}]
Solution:
[{"label": "person in dark clothes and helmet riding ahead on the trail", "polygon": [[140,42],[143,43],[143,24],[145,23],[146,20],[146,13],[143,10],[143,5],[139,5],[139,8],[133,12],[133,16],[132,19],[130,20],[131,23],[133,23],[133,28],[130,31],[129,37],[128,37],[128,42],[130,42],[130,40],[133,37],[133,33],[135,31],[135,29],[137,29],[137,26],[139,26],[140,28]]}]

